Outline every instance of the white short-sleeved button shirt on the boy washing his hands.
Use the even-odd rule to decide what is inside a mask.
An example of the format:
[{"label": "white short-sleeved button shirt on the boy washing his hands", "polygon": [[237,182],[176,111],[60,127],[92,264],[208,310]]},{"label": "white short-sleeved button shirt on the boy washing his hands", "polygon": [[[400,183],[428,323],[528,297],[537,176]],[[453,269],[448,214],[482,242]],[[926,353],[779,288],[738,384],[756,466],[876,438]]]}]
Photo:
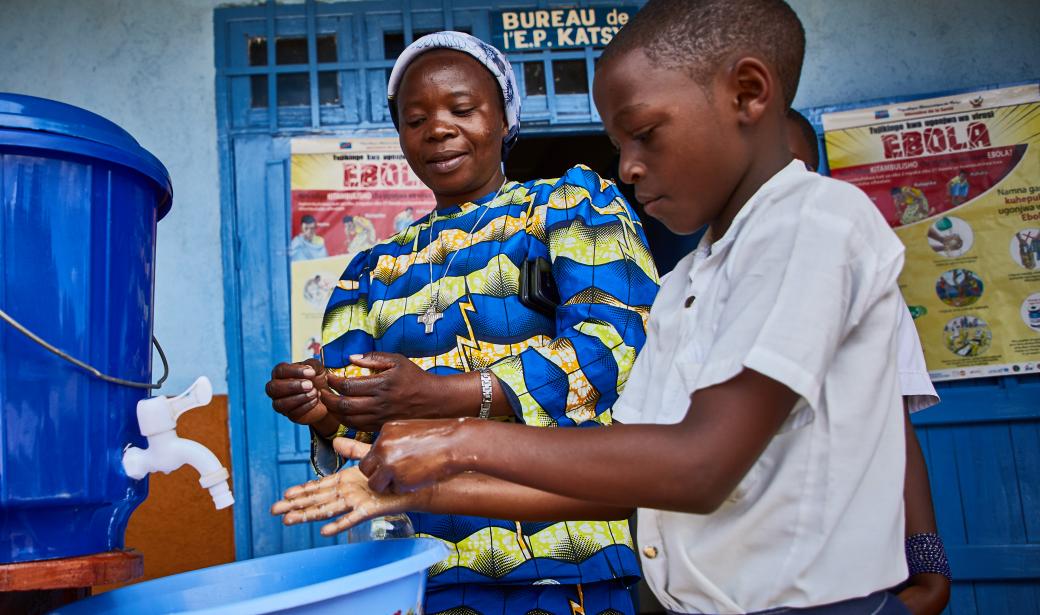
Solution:
[{"label": "white short-sleeved button shirt on the boy washing his hands", "polygon": [[862,191],[792,161],[661,281],[619,421],[679,422],[694,391],[745,367],[800,395],[714,513],[640,509],[644,574],[667,609],[826,605],[906,579],[902,266]]}]

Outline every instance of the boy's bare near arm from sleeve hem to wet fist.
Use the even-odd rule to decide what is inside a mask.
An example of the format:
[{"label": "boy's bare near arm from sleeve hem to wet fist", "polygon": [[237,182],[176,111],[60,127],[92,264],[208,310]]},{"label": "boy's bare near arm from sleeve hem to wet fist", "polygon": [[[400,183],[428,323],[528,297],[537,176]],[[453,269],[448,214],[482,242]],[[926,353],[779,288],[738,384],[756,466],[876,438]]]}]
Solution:
[{"label": "boy's bare near arm from sleeve hem to wet fist", "polygon": [[698,390],[691,404],[697,410],[678,425],[587,431],[480,420],[391,422],[360,468],[379,492],[407,493],[475,471],[614,507],[710,513],[761,455],[797,400],[788,387],[744,369]]}]

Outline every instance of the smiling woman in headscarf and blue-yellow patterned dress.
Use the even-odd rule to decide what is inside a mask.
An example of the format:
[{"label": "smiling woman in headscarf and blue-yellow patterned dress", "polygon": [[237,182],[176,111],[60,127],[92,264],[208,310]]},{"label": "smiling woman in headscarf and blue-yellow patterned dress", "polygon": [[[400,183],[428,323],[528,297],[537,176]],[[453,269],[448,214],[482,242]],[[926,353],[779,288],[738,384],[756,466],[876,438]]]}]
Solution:
[{"label": "smiling woman in headscarf and blue-yellow patterned dress", "polygon": [[[409,46],[388,100],[437,207],[346,268],[326,311],[322,362],[275,368],[267,392],[312,427],[317,472],[339,467],[333,436],[369,440],[400,418],[609,425],[657,290],[631,208],[583,166],[558,180],[504,177],[519,134],[516,78],[469,34]],[[451,549],[431,570],[427,613],[633,612],[639,568],[623,518],[411,517]]]}]

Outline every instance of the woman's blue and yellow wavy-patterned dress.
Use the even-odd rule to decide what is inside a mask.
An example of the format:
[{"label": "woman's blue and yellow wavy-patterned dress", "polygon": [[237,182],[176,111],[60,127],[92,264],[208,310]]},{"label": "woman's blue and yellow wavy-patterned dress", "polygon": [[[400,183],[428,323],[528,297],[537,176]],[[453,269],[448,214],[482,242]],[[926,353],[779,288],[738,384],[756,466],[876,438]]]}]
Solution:
[{"label": "woman's blue and yellow wavy-patterned dress", "polygon": [[[489,367],[516,420],[608,425],[657,291],[642,224],[612,182],[580,165],[492,197],[437,211],[433,241],[426,215],[352,261],[326,310],[327,367],[363,374],[348,357],[369,351],[400,353],[434,374]],[[540,257],[560,290],[554,318],[518,296],[522,263]],[[418,316],[435,291],[443,317],[427,334]],[[330,451],[316,439],[319,473],[339,465]],[[410,516],[418,535],[451,549],[430,571],[427,613],[632,612],[626,587],[639,562],[627,521]]]}]

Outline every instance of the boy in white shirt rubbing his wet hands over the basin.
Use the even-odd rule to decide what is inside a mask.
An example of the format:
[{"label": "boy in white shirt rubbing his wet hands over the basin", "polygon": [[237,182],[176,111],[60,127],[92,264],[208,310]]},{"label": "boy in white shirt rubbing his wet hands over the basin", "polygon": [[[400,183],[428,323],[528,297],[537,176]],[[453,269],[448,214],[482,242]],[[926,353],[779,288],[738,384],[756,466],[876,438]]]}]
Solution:
[{"label": "boy in white shirt rubbing his wet hands over the basin", "polygon": [[391,422],[370,452],[337,441],[368,453],[367,483],[341,472],[272,510],[349,511],[328,534],[394,508],[638,506],[644,571],[671,611],[905,612],[885,592],[907,572],[903,249],[865,195],[791,161],[803,51],[779,0],[650,0],[599,61],[622,179],[672,231],[710,229],[654,302],[615,405],[629,425]]}]

